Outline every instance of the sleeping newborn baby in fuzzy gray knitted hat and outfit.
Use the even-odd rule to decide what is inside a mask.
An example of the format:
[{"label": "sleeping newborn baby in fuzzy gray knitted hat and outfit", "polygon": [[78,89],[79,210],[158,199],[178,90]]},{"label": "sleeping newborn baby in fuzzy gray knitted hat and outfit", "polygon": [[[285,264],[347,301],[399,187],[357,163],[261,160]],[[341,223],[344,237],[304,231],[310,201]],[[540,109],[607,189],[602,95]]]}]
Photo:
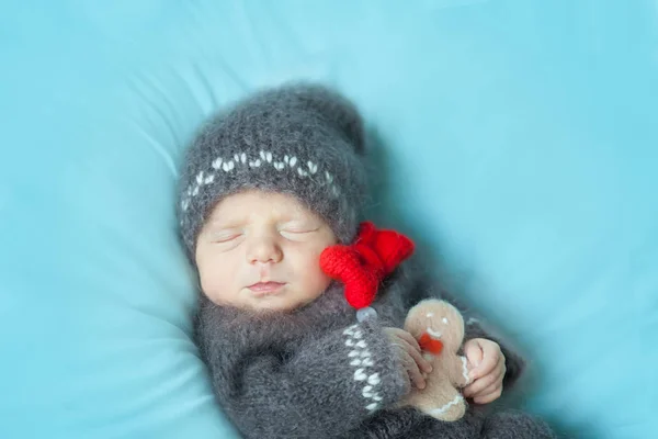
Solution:
[{"label": "sleeping newborn baby in fuzzy gray knitted hat and outfit", "polygon": [[[553,438],[527,414],[479,409],[523,362],[464,307],[466,414],[442,421],[400,404],[432,368],[401,329],[407,312],[427,297],[454,300],[408,255],[358,273],[377,284],[365,299],[347,300],[345,284],[330,275],[330,263],[359,262],[350,255],[381,256],[363,235],[364,224],[379,233],[363,218],[365,166],[355,106],[317,85],[257,92],[192,142],[180,234],[202,290],[197,344],[226,415],[258,439]],[[322,261],[344,246],[360,251]]]}]

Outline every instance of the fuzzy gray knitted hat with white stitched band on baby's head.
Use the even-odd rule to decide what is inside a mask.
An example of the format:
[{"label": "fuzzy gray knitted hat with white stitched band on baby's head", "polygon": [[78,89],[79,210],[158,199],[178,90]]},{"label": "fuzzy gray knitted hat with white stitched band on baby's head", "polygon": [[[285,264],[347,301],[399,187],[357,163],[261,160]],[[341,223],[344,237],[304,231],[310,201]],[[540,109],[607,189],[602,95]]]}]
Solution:
[{"label": "fuzzy gray knitted hat with white stitched band on baby's head", "polygon": [[213,207],[260,189],[296,196],[347,244],[365,195],[363,124],[354,105],[315,85],[261,91],[212,117],[188,150],[179,221],[189,257]]}]

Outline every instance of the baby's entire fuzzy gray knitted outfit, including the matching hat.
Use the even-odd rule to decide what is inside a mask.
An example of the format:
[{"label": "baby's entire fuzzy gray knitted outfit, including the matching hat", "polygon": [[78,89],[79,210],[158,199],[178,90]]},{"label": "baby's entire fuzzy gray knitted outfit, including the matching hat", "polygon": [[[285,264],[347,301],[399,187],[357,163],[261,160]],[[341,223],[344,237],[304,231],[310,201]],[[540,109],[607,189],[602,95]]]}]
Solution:
[{"label": "baby's entire fuzzy gray knitted outfit, including the matching hat", "polygon": [[[358,232],[365,193],[363,128],[356,109],[318,86],[254,94],[209,121],[192,144],[180,185],[181,235],[193,260],[213,206],[243,189],[288,193],[321,215],[341,243]],[[196,335],[217,399],[246,438],[552,438],[522,413],[455,423],[396,408],[408,379],[383,328],[401,327],[421,299],[450,300],[405,262],[373,303],[377,318],[358,322],[332,283],[316,301],[285,313],[258,314],[213,304],[202,294]],[[460,306],[457,304],[457,306]],[[491,338],[460,306],[466,339]],[[523,362],[501,345],[504,385]]]}]

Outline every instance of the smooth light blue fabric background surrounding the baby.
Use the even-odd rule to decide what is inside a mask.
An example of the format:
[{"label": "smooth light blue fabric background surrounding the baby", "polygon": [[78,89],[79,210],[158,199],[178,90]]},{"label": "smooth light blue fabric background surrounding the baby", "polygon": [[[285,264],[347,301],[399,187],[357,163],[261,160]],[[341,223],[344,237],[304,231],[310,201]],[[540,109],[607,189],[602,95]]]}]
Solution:
[{"label": "smooth light blue fabric background surrounding the baby", "polygon": [[0,437],[232,437],[177,166],[207,114],[293,78],[362,108],[373,214],[530,354],[527,409],[654,437],[657,56],[649,0],[3,1]]}]

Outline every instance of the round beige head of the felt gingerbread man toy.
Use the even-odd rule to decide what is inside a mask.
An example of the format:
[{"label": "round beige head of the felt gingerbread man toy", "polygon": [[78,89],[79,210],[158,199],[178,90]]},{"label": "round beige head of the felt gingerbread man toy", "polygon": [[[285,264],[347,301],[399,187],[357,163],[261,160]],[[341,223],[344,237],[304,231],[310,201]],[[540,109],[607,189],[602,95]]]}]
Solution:
[{"label": "round beige head of the felt gingerbread man toy", "polygon": [[420,334],[427,333],[431,338],[441,340],[445,347],[462,345],[464,319],[452,305],[442,303],[441,305],[423,306],[418,309],[417,318],[419,327],[416,329]]}]

